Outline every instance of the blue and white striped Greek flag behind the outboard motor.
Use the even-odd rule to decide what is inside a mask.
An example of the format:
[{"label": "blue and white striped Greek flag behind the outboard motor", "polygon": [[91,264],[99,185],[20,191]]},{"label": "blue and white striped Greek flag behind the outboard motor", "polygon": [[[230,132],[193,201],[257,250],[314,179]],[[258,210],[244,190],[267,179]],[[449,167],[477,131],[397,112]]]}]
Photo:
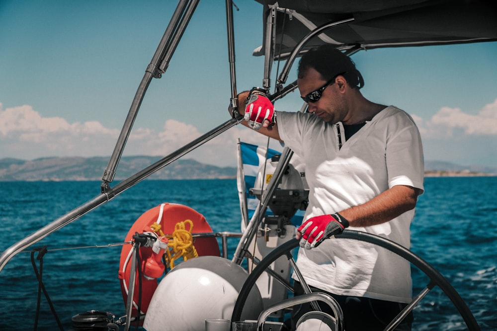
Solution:
[{"label": "blue and white striped Greek flag behind the outboard motor", "polygon": [[[237,185],[241,202],[240,206],[244,218],[242,220],[242,228],[245,229],[244,225],[248,224],[248,221],[252,218],[254,211],[259,204],[259,199],[250,195],[248,191],[254,187],[259,169],[266,163],[266,158],[267,160],[270,160],[274,155],[281,154],[281,152],[269,148],[266,153],[265,147],[242,141],[239,141],[239,148],[239,171],[237,175]],[[269,208],[267,208],[266,215],[274,214]],[[291,222],[297,226],[300,226],[300,224],[302,224],[303,217],[304,210],[297,210],[295,215],[291,218]]]}]

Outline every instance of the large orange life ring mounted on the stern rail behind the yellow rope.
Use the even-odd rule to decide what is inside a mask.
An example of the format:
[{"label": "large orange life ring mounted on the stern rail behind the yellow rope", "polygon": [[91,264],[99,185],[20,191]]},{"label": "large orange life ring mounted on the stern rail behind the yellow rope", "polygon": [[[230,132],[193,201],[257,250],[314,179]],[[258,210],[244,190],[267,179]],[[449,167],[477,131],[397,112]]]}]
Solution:
[{"label": "large orange life ring mounted on the stern rail behind the yellow rope", "polygon": [[[128,234],[126,235],[125,241],[131,241],[133,235],[138,233],[143,233],[145,231],[150,231],[150,226],[157,221],[160,221],[162,231],[165,234],[171,234],[174,231],[174,226],[178,222],[185,221],[187,219],[193,222],[192,233],[203,233],[212,232],[212,228],[209,223],[205,220],[205,217],[194,209],[175,203],[164,203],[162,218],[159,220],[159,215],[161,212],[161,205],[158,205],[152,209],[147,210],[143,213],[131,226]],[[195,249],[198,256],[221,256],[219,251],[219,244],[217,239],[214,237],[210,238],[196,238],[195,239]],[[130,281],[130,270],[131,270],[131,250],[132,245],[124,245],[121,250],[121,260],[119,263],[119,279],[121,283],[121,292],[124,299],[124,304],[126,305],[128,300],[128,285]],[[141,268],[145,267],[145,261],[152,256],[152,248],[140,247],[139,255],[141,261]],[[141,276],[142,290],[141,290],[141,314],[146,314],[149,308],[150,300],[158,286],[157,279],[149,279]],[[133,317],[137,316],[137,303],[139,302],[139,273],[137,272],[135,278],[135,292],[133,295],[133,308],[131,315]],[[141,324],[141,323],[140,323]]]}]

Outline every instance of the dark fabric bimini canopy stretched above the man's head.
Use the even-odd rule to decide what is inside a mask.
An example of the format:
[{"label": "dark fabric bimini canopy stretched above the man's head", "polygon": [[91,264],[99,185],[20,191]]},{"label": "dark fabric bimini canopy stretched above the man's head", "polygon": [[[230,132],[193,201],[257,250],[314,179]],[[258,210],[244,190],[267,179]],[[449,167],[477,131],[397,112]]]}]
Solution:
[{"label": "dark fabric bimini canopy stretched above the man's head", "polygon": [[[257,0],[275,15],[274,54],[288,55],[310,31],[353,18],[310,40],[337,48],[374,49],[497,40],[495,0]],[[254,51],[263,55],[266,40]],[[275,55],[275,58],[278,56]]]}]

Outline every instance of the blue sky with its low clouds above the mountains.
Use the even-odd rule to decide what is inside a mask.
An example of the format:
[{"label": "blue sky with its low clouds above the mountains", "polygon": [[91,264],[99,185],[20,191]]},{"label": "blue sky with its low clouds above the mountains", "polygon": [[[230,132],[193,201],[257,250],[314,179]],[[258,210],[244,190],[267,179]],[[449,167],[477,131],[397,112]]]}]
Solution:
[{"label": "blue sky with its low clouds above the mountains", "polygon": [[[224,2],[200,1],[166,74],[152,80],[124,155],[164,156],[229,120]],[[262,40],[262,5],[235,3],[242,91],[262,83],[263,59],[251,55]],[[110,157],[175,6],[150,0],[1,1],[0,158]],[[484,166],[497,165],[496,58],[495,42],[353,56],[365,79],[362,93],[414,117],[426,160]],[[276,109],[297,111],[298,96],[277,101]],[[265,143],[237,126],[186,157],[234,166],[237,137]]]}]

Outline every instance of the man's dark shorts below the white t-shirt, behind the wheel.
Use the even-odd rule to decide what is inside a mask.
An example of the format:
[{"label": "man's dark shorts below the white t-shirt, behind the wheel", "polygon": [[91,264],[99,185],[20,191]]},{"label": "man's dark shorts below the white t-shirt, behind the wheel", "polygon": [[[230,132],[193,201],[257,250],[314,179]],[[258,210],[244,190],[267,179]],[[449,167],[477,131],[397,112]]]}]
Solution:
[{"label": "man's dark shorts below the white t-shirt, behind the wheel", "polygon": [[[294,290],[295,295],[304,294],[304,290],[298,281],[294,284]],[[343,312],[344,329],[346,331],[383,331],[407,306],[407,304],[393,301],[335,295],[312,286],[311,291],[329,294],[338,302]],[[323,312],[333,316],[333,312],[327,304],[320,303],[320,307]],[[309,311],[314,311],[310,303],[295,307],[292,313],[292,324],[295,326],[299,318]],[[411,331],[413,320],[413,313],[411,312],[395,330]]]}]

